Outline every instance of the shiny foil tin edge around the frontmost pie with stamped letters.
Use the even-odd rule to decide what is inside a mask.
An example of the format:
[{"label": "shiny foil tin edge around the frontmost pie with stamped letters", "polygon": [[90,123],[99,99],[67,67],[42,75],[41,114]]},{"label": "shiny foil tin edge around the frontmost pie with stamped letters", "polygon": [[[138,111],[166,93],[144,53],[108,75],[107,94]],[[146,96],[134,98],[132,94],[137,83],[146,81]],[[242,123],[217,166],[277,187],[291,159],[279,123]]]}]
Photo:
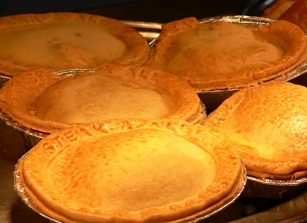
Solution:
[{"label": "shiny foil tin edge around the frontmost pie with stamped letters", "polygon": [[[30,150],[31,151],[31,150]],[[14,189],[17,192],[17,194],[21,197],[22,201],[28,206],[30,207],[32,210],[34,210],[35,212],[37,212],[39,215],[47,218],[50,220],[50,222],[53,223],[62,223],[62,221],[58,221],[56,219],[53,219],[49,216],[47,216],[37,205],[36,203],[31,199],[31,197],[28,195],[27,191],[25,190],[25,187],[23,185],[22,182],[22,174],[21,174],[21,169],[20,169],[20,165],[21,165],[21,161],[23,161],[27,154],[30,152],[28,151],[26,154],[24,154],[17,162],[17,164],[15,165],[15,170],[13,173],[13,185],[14,185]],[[204,220],[216,213],[218,213],[219,211],[225,209],[226,207],[228,207],[229,205],[231,205],[232,203],[234,203],[236,201],[236,199],[242,194],[244,187],[246,185],[246,169],[245,166],[242,162],[242,177],[239,179],[240,180],[240,184],[238,186],[238,188],[235,191],[235,194],[230,197],[228,200],[226,200],[225,202],[223,202],[222,204],[218,205],[217,207],[214,207],[213,209],[210,209],[209,211],[207,211],[206,213],[202,213],[200,215],[197,216],[193,216],[192,218],[184,218],[184,220],[182,221],[176,221],[177,223],[196,223],[199,222],[201,220]]]}]

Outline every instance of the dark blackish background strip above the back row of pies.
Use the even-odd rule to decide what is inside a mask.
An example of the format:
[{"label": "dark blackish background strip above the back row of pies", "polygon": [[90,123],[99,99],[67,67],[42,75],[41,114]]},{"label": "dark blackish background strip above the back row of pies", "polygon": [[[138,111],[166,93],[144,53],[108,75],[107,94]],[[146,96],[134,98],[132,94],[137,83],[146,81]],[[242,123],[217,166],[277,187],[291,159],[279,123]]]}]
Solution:
[{"label": "dark blackish background strip above the back row of pies", "polygon": [[0,0],[0,16],[82,11],[125,20],[168,22],[188,16],[260,15],[274,0]]}]

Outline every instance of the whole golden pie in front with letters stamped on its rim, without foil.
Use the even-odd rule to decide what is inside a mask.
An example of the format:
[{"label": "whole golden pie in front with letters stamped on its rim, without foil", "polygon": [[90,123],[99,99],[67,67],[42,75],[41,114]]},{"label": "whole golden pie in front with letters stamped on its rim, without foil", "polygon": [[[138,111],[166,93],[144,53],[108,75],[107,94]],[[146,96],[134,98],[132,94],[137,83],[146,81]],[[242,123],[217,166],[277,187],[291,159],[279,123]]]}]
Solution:
[{"label": "whole golden pie in front with letters stamped on its rim, without foil", "polygon": [[177,222],[233,198],[234,147],[179,119],[115,119],[39,142],[20,165],[26,192],[63,222]]}]

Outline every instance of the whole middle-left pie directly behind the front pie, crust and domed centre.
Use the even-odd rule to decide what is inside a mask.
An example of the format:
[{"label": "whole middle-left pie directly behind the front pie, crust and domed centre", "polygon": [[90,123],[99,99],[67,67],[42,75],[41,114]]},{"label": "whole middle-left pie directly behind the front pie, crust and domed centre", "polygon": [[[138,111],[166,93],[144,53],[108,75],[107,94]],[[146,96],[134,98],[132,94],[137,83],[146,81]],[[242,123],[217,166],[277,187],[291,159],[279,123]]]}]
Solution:
[{"label": "whole middle-left pie directly behind the front pie, crust and domed centre", "polygon": [[174,117],[197,122],[197,93],[166,72],[106,64],[75,77],[38,69],[14,76],[0,90],[0,108],[20,124],[54,132],[73,123],[111,118]]}]

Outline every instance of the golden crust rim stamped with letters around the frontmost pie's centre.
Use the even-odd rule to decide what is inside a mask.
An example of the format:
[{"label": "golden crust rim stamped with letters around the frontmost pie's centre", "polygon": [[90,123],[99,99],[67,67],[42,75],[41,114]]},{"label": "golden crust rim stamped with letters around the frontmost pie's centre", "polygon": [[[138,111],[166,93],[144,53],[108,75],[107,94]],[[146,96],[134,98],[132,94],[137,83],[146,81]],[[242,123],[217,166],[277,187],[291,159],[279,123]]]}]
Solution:
[{"label": "golden crust rim stamped with letters around the frontmost pie's centre", "polygon": [[[46,186],[45,170],[50,160],[61,151],[83,139],[107,136],[141,128],[167,129],[175,135],[194,142],[211,154],[216,162],[216,178],[195,196],[163,206],[148,207],[137,211],[86,212],[62,206],[60,197],[52,197]],[[35,165],[33,165],[35,163]],[[198,212],[206,212],[214,205],[233,197],[242,186],[241,161],[235,149],[210,129],[178,119],[114,119],[104,122],[73,126],[44,138],[27,155],[21,165],[23,183],[27,193],[47,215],[65,222],[174,222]],[[45,181],[46,180],[46,181]],[[48,182],[47,182],[48,184]],[[90,197],[92,199],[93,197]],[[54,202],[58,200],[59,202]]]}]

